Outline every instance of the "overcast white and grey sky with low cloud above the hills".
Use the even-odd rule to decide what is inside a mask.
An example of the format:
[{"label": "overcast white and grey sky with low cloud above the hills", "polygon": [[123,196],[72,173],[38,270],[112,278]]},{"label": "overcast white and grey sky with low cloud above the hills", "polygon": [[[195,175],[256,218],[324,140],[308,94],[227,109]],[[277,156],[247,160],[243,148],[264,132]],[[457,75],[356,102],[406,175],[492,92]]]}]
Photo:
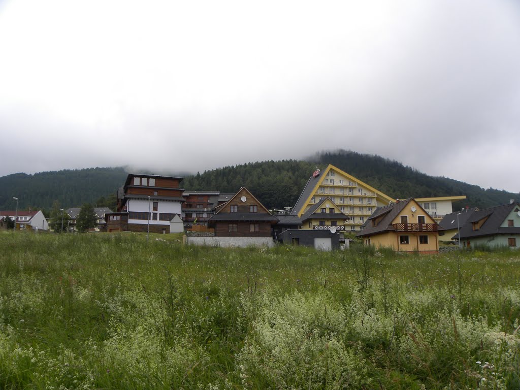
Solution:
[{"label": "overcast white and grey sky with low cloud above the hills", "polygon": [[520,191],[516,0],[0,0],[0,176],[379,154]]}]

